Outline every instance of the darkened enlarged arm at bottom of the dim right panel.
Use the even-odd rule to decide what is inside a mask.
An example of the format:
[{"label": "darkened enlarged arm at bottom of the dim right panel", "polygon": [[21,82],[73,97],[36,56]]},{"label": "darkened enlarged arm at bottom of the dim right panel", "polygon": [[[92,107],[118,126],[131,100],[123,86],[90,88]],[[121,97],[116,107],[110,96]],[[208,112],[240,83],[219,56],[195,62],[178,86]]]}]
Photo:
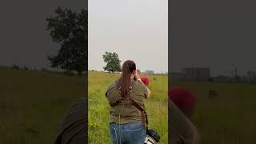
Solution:
[{"label": "darkened enlarged arm at bottom of the dim right panel", "polygon": [[200,139],[198,130],[190,119],[171,101],[170,96],[168,106],[169,143],[198,144]]}]

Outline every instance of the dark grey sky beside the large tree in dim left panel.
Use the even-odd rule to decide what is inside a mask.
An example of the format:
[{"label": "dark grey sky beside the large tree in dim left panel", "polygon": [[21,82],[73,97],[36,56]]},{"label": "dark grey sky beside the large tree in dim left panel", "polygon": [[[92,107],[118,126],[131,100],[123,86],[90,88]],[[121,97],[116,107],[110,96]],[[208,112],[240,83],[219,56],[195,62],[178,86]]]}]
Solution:
[{"label": "dark grey sky beside the large tree in dim left panel", "polygon": [[85,0],[1,1],[0,66],[18,64],[42,68],[49,66],[47,54],[56,54],[59,46],[46,32],[46,17],[58,6],[81,10]]}]

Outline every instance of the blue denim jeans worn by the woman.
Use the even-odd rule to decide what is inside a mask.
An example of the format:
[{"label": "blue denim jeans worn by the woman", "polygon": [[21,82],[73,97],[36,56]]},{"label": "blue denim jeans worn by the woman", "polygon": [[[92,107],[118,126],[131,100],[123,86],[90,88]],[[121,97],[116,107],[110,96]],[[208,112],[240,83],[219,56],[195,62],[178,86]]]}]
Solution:
[{"label": "blue denim jeans worn by the woman", "polygon": [[142,122],[120,125],[110,123],[110,136],[114,144],[143,144],[146,129],[142,127]]}]

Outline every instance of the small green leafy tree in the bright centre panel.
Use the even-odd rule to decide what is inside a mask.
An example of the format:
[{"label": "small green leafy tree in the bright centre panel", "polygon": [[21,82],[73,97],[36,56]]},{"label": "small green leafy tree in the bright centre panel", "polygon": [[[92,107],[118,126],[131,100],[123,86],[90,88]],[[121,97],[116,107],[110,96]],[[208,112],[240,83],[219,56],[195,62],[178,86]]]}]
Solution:
[{"label": "small green leafy tree in the bright centre panel", "polygon": [[104,70],[112,73],[121,71],[121,61],[118,58],[118,54],[116,54],[115,52],[105,52],[105,54],[103,54],[103,60],[104,62],[106,62],[106,66],[103,67]]}]

